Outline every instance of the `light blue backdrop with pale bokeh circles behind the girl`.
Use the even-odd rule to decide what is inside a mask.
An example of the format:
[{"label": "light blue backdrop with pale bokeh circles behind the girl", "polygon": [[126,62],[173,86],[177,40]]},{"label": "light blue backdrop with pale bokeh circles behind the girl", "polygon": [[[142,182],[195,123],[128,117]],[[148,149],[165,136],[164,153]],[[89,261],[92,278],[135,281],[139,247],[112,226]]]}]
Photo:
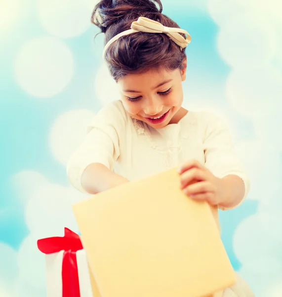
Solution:
[{"label": "light blue backdrop with pale bokeh circles behind the girl", "polygon": [[[257,297],[282,296],[282,21],[269,0],[163,0],[187,29],[185,107],[230,124],[251,191],[220,212],[222,238]],[[0,296],[45,296],[38,238],[78,231],[65,164],[117,99],[90,24],[95,0],[0,0]],[[279,7],[280,6],[280,7]]]}]

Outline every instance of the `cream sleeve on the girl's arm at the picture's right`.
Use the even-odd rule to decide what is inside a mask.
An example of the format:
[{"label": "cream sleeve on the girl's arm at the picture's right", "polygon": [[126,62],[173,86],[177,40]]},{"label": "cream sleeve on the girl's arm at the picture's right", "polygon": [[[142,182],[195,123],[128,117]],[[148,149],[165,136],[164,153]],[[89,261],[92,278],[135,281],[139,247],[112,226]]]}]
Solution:
[{"label": "cream sleeve on the girl's arm at the picture's right", "polygon": [[[204,113],[204,139],[203,149],[205,155],[205,167],[208,168],[215,176],[223,178],[227,175],[239,176],[245,185],[245,193],[240,204],[247,196],[250,188],[248,175],[244,170],[240,159],[235,153],[232,137],[228,125],[219,117],[210,113]],[[227,210],[218,205],[219,209]]]}]

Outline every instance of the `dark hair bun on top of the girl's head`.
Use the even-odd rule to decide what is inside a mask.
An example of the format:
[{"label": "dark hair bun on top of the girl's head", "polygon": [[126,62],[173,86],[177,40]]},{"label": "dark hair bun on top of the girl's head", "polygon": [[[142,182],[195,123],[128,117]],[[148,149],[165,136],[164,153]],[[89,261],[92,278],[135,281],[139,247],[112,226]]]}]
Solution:
[{"label": "dark hair bun on top of the girl's head", "polygon": [[161,12],[161,0],[101,0],[94,8],[91,21],[105,33],[116,22]]}]

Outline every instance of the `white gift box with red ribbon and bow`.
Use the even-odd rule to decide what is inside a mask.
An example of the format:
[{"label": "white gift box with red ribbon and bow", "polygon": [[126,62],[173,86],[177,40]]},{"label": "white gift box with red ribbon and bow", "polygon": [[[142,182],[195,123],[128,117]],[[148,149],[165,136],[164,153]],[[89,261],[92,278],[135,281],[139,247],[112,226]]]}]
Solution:
[{"label": "white gift box with red ribbon and bow", "polygon": [[47,297],[101,297],[89,270],[78,234],[65,228],[64,237],[44,238]]}]

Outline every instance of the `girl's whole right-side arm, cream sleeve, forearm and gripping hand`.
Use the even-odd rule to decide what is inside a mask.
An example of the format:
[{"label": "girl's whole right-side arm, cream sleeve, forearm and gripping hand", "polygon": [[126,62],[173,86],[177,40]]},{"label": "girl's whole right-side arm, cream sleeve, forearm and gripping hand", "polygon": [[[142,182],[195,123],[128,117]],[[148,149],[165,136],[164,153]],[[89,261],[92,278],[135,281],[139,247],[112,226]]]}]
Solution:
[{"label": "girl's whole right-side arm, cream sleeve, forearm and gripping hand", "polygon": [[[205,164],[191,160],[181,166],[181,188],[191,198],[206,200],[222,210],[232,209],[248,194],[249,179],[224,122],[210,114],[206,114],[205,122]],[[192,184],[193,181],[196,183]]]}]

